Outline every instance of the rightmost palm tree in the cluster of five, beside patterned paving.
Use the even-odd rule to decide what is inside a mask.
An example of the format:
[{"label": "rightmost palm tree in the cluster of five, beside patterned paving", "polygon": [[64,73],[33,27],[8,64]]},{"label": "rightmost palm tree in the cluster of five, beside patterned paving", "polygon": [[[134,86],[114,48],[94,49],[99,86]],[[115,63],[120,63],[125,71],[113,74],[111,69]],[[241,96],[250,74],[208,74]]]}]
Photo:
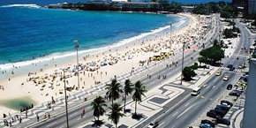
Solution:
[{"label": "rightmost palm tree in the cluster of five, beside patterned paving", "polygon": [[134,94],[132,95],[133,101],[135,101],[135,115],[137,115],[137,102],[141,102],[142,95],[145,96],[144,93],[147,92],[146,87],[140,81],[137,81],[134,85]]}]

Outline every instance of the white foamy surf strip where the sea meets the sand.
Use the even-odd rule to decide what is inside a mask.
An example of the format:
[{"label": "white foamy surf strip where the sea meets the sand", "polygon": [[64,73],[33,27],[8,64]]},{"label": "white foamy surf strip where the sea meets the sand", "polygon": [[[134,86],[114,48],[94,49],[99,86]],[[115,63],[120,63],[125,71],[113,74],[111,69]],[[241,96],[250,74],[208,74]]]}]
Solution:
[{"label": "white foamy surf strip where the sea meets the sand", "polygon": [[[173,26],[171,26],[171,28],[173,28],[171,30],[171,32],[177,31],[178,29],[181,29],[182,25],[186,24],[188,21],[188,19],[182,15],[179,14],[171,14],[174,15],[176,17],[179,17],[179,21],[174,23]],[[167,17],[169,17],[169,15],[167,15]],[[184,23],[182,23],[184,21]],[[175,26],[175,25],[180,25],[181,26]],[[147,38],[147,36],[150,36],[152,34],[160,34],[163,31],[165,31],[166,29],[169,29],[169,25],[168,26],[161,26],[158,27],[156,29],[150,30],[149,32],[146,33],[141,33],[138,34],[136,36],[132,36],[130,38],[124,38],[120,41],[117,41],[113,44],[109,44],[109,45],[105,45],[105,46],[100,46],[98,48],[93,48],[93,49],[81,49],[79,50],[79,56],[83,55],[83,54],[89,54],[89,55],[96,55],[96,54],[101,54],[103,52],[108,51],[109,49],[118,49],[119,47],[124,47],[125,45],[130,46],[132,43],[132,41],[139,41],[142,40],[143,38]],[[100,51],[99,51],[100,50]],[[47,56],[43,56],[43,57],[37,57],[33,60],[26,60],[26,61],[21,61],[21,62],[15,62],[15,63],[8,63],[8,64],[0,64],[0,72],[5,72],[5,77],[1,77],[0,76],[0,80],[1,79],[8,79],[9,77],[11,77],[11,72],[16,72],[16,70],[20,69],[20,68],[26,68],[27,66],[33,66],[33,64],[41,64],[41,63],[56,63],[56,64],[62,64],[64,63],[62,61],[62,59],[64,59],[64,57],[69,57],[69,58],[73,58],[76,56],[76,51],[75,49],[73,51],[65,51],[62,53],[56,52],[56,53],[52,53],[49,54]],[[59,60],[57,60],[59,59]],[[79,59],[81,59],[81,57],[79,57]],[[60,62],[60,63],[59,63]],[[44,68],[43,65],[41,65],[42,68]],[[39,71],[39,69],[36,70],[37,72]],[[6,76],[6,74],[8,74],[9,72],[9,76]],[[33,72],[33,71],[31,71]],[[28,73],[28,72],[26,72]],[[23,73],[24,74],[24,73]],[[18,75],[22,75],[21,73],[18,72]]]}]

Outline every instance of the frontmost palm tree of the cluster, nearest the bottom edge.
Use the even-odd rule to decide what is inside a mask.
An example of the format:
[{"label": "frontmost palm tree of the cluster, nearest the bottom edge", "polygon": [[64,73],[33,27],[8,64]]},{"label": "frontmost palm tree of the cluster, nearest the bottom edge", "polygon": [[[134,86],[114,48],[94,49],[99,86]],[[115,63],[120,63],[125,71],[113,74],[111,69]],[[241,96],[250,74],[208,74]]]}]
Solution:
[{"label": "frontmost palm tree of the cluster, nearest the bottom edge", "polygon": [[120,104],[114,103],[112,107],[110,107],[110,109],[111,109],[111,112],[108,115],[109,119],[116,125],[116,128],[117,128],[117,124],[119,122],[120,117],[124,116],[124,114],[121,113],[123,108],[121,107]]}]

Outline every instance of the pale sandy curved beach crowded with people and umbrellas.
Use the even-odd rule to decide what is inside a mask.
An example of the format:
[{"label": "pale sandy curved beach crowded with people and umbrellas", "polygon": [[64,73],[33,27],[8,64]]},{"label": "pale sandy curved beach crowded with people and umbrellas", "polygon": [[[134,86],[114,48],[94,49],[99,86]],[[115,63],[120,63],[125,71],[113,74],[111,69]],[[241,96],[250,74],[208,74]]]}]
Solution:
[{"label": "pale sandy curved beach crowded with people and umbrellas", "polygon": [[[203,37],[206,30],[203,26],[207,18],[190,13],[180,13],[178,16],[188,19],[188,25],[171,33],[169,26],[166,26],[160,32],[138,37],[122,45],[109,46],[98,51],[79,52],[79,89],[94,87],[124,73],[132,74],[141,66],[147,68],[147,64],[154,62],[154,56],[175,56],[182,49],[184,42],[189,42],[185,44],[186,48],[201,45],[195,42]],[[78,85],[76,57],[63,58],[69,61],[55,63],[57,59],[51,58],[48,62],[29,65],[28,68],[35,69],[34,72],[28,73],[15,66],[11,70],[13,74],[3,71],[2,75],[11,73],[11,77],[0,80],[0,86],[4,88],[0,89],[0,101],[29,97],[36,105],[64,96],[64,72],[61,69],[67,67],[67,87],[71,88],[67,93],[75,93]],[[8,114],[7,112],[11,114],[17,110],[0,104],[0,114]]]}]

